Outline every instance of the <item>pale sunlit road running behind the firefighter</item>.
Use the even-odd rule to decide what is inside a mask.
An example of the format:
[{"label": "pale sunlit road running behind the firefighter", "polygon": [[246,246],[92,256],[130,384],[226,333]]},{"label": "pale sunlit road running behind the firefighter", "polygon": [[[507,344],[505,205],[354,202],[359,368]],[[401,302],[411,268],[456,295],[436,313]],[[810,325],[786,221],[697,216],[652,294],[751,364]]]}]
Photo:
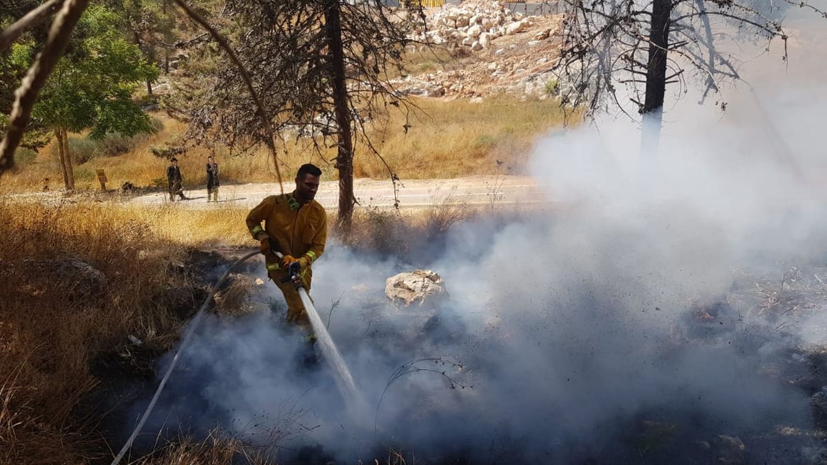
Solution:
[{"label": "pale sunlit road running behind the firefighter", "polygon": [[[452,180],[406,180],[398,183],[399,206],[401,208],[423,208],[440,204],[466,204],[476,206],[504,206],[514,204],[537,204],[545,201],[543,187],[528,176],[471,176]],[[284,185],[289,192],[294,185]],[[319,186],[316,200],[326,209],[338,206],[337,181],[323,181]],[[218,204],[231,204],[252,208],[267,195],[280,192],[277,183],[222,185]],[[356,199],[363,207],[391,208],[394,206],[393,185],[390,180],[355,180]],[[184,190],[191,200],[176,201],[191,208],[204,208],[215,203],[207,202],[207,189]],[[143,204],[168,204],[168,194],[148,194],[136,197],[133,202]]]}]

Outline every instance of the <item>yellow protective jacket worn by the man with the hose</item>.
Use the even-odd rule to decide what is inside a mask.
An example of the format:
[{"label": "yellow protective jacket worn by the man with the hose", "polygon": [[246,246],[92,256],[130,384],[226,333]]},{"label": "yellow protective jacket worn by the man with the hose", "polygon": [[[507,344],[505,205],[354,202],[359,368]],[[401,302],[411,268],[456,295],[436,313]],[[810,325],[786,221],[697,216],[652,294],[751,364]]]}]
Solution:
[{"label": "yellow protective jacket worn by the man with the hose", "polygon": [[[247,215],[246,224],[254,238],[265,231],[278,242],[278,252],[304,257],[308,266],[322,256],[327,242],[327,213],[322,204],[315,200],[299,204],[293,192],[266,197]],[[279,269],[275,256],[267,256],[265,261],[268,271]]]}]

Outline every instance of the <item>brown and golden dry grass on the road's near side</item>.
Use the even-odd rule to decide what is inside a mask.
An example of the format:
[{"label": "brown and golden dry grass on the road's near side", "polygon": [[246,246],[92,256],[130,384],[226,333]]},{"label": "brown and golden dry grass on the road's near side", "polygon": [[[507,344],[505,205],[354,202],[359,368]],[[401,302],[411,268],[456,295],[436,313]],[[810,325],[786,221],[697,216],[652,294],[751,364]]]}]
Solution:
[{"label": "brown and golden dry grass on the road's near side", "polygon": [[[105,455],[108,448],[93,429],[98,419],[73,413],[99,381],[90,362],[98,353],[122,350],[128,335],[169,349],[182,322],[149,297],[184,279],[170,263],[185,259],[189,249],[256,247],[244,227],[246,213],[78,196],[0,200],[0,463],[87,463]],[[447,205],[404,214],[360,209],[357,233],[347,243],[404,254],[473,214]],[[65,282],[44,282],[55,276],[47,268],[67,257],[101,271],[106,289],[71,299]],[[243,453],[243,444],[216,437],[160,447],[143,463],[226,463]]]}]

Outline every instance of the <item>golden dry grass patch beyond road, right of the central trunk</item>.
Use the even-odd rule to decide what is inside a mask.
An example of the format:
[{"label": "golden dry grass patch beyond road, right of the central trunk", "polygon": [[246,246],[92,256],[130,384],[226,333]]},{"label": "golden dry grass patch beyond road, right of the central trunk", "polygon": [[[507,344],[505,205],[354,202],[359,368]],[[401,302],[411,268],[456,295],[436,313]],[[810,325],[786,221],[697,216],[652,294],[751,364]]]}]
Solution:
[{"label": "golden dry grass patch beyond road, right of the central trunk", "polygon": [[[562,108],[551,100],[487,98],[467,100],[419,99],[422,112],[409,117],[392,113],[375,127],[374,144],[391,169],[403,179],[453,178],[502,174],[519,170],[528,161],[539,135],[563,122]],[[356,176],[380,178],[385,166],[365,151],[354,167]]]}]

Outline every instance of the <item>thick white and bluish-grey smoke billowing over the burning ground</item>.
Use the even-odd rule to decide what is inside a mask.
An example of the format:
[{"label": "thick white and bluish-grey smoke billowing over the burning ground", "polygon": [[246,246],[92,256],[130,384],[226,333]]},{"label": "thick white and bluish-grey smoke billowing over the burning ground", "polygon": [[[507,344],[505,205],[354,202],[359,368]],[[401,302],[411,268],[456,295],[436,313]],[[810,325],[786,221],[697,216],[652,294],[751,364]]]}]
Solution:
[{"label": "thick white and bluish-grey smoke billowing over the burning ground", "polygon": [[[720,434],[760,457],[779,426],[812,428],[808,393],[765,368],[824,343],[810,325],[824,318],[779,332],[728,300],[739,276],[780,280],[825,256],[827,60],[806,58],[804,36],[789,69],[748,63],[725,113],[691,94],[669,108],[656,159],[625,120],[544,138],[531,172],[549,203],[525,218],[461,223],[417,263],[330,244],[311,295],[366,410],[348,415],[299,334],[262,312],[205,320],[148,429],[220,425],[277,458],[346,463],[389,448],[433,463],[703,463],[715,452],[697,443]],[[385,278],[413,266],[439,272],[451,300],[392,306]],[[663,441],[681,455],[642,445],[643,420],[674,426]]]}]

